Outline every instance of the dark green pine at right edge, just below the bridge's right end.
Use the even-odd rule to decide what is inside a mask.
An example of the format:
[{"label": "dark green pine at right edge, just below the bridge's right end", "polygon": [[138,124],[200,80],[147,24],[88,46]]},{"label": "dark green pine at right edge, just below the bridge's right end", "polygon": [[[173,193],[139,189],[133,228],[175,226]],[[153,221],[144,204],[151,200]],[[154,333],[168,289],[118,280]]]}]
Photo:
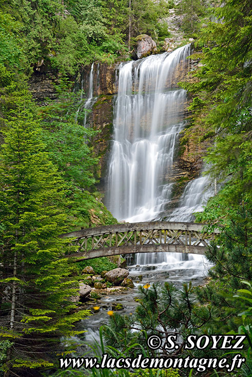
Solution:
[{"label": "dark green pine at right edge, just below the bridge's right end", "polygon": [[214,307],[215,316],[210,322],[218,331],[236,329],[241,324],[236,316],[242,310],[242,303],[235,302],[232,295],[243,288],[241,280],[252,279],[251,212],[241,206],[228,218],[228,225],[216,241],[218,247],[213,243],[206,252],[214,263],[209,271],[212,280],[205,287],[197,288],[200,301],[210,302]]}]

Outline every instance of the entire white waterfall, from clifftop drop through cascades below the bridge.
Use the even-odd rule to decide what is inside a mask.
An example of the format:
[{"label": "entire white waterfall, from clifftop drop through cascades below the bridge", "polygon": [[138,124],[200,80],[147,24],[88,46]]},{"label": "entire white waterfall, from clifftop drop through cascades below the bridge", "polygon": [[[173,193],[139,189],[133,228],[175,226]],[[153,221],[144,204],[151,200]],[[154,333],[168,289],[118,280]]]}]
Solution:
[{"label": "entire white waterfall, from clifftop drop through cascades below the bridge", "polygon": [[[168,221],[192,221],[192,212],[199,210],[209,195],[208,177],[200,176],[186,185],[178,208],[169,216],[166,212],[172,196],[169,177],[177,157],[179,133],[185,125],[186,92],[177,82],[188,69],[189,53],[187,45],[170,54],[152,55],[119,66],[106,187],[106,205],[119,220],[156,220],[162,213]],[[177,285],[190,280],[199,284],[207,267],[201,255],[139,253],[129,266],[129,277],[134,278],[135,287],[164,280]],[[123,303],[124,312],[133,312],[135,292],[132,294],[130,289],[123,293],[116,299]],[[111,308],[112,301],[113,297],[103,296],[100,302]],[[89,327],[88,342],[99,341],[97,328],[102,323],[103,310],[82,321]]]}]

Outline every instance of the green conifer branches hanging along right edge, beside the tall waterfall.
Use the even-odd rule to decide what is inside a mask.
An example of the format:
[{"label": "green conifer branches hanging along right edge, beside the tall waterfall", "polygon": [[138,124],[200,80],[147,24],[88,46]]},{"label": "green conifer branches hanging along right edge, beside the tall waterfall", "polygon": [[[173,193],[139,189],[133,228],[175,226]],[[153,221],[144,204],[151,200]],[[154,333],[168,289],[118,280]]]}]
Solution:
[{"label": "green conifer branches hanging along right edge, beside the tall waterfall", "polygon": [[201,31],[196,79],[182,84],[194,95],[184,137],[208,146],[208,173],[219,186],[198,221],[225,223],[242,201],[251,202],[251,4],[228,0],[214,16]]}]

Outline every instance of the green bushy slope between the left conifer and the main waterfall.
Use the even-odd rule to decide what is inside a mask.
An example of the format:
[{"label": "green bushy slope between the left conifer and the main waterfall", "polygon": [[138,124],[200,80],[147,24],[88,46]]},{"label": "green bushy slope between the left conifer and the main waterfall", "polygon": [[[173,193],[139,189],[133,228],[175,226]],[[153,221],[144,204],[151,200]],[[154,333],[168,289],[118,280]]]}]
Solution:
[{"label": "green bushy slope between the left conifer and the main waterfall", "polygon": [[94,192],[98,158],[93,156],[89,141],[95,132],[82,125],[85,109],[76,117],[81,107],[79,93],[70,91],[71,81],[67,78],[62,78],[55,88],[58,100],[40,111],[42,134],[46,150],[67,185],[70,226],[76,229],[114,223],[116,220]]}]

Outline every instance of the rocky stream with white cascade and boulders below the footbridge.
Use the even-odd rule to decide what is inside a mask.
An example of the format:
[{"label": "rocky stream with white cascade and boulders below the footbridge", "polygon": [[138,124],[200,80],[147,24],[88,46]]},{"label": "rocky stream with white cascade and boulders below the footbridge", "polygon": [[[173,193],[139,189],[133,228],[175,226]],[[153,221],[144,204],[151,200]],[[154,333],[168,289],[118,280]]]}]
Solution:
[{"label": "rocky stream with white cascade and boulders below the footbridge", "polygon": [[[163,262],[161,264],[147,264],[147,265],[129,265],[127,268],[116,268],[115,270],[125,270],[123,281],[127,279],[131,282],[131,287],[118,285],[106,286],[98,288],[98,281],[100,284],[104,283],[102,276],[93,275],[91,278],[94,283],[90,290],[90,295],[84,301],[83,307],[90,309],[92,315],[87,319],[81,321],[77,326],[79,329],[86,329],[83,336],[80,336],[79,342],[82,344],[78,353],[83,354],[84,348],[95,342],[99,342],[99,328],[101,325],[107,324],[109,320],[109,313],[111,311],[119,311],[122,314],[130,315],[138,305],[138,287],[140,285],[148,286],[152,283],[164,284],[165,281],[181,286],[184,282],[192,281],[193,285],[205,284],[208,275],[208,268],[210,267],[204,256],[186,255],[167,253],[169,263]],[[134,263],[134,262],[132,262]],[[87,267],[86,267],[87,268]],[[114,270],[109,271],[115,276]],[[84,274],[90,275],[90,274]],[[105,275],[104,275],[105,276]],[[123,276],[123,274],[122,274]],[[88,278],[89,279],[89,278]],[[98,280],[98,281],[97,281]],[[84,281],[86,281],[84,279]],[[102,282],[103,281],[103,282]],[[105,280],[106,281],[106,280]],[[108,281],[107,281],[108,283]],[[96,287],[94,287],[94,284]],[[133,284],[133,287],[132,287]],[[107,284],[109,285],[109,284]],[[108,313],[109,312],[109,313]],[[86,343],[86,347],[83,344]]]}]

